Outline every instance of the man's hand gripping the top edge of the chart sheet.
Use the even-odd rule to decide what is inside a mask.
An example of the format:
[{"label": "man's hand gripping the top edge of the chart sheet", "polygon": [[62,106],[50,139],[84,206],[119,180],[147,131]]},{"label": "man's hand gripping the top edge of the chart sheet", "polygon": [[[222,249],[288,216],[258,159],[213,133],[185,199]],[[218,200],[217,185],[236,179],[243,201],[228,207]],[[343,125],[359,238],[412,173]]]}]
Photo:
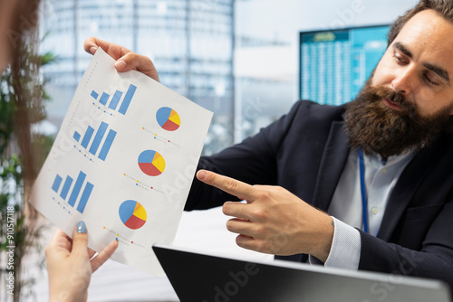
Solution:
[{"label": "man's hand gripping the top edge of the chart sheet", "polygon": [[104,52],[107,52],[116,60],[115,67],[117,71],[140,71],[151,79],[159,81],[158,71],[156,71],[154,64],[148,57],[135,52],[130,52],[130,50],[118,44],[105,42],[94,37],[86,39],[83,43],[85,52],[91,54],[94,54],[98,47],[101,47]]}]

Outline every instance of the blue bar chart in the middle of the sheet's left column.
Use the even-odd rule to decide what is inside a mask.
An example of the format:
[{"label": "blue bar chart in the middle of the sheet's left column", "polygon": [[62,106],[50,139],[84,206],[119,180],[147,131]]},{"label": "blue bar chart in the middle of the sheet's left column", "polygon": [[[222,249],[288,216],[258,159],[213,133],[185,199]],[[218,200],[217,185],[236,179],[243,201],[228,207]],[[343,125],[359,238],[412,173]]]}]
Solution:
[{"label": "blue bar chart in the middle of the sheet's left column", "polygon": [[[90,152],[93,156],[96,156],[98,153],[98,150],[101,146],[102,139],[105,137],[105,133],[107,132],[107,128],[109,127],[109,124],[105,122],[101,122],[101,125],[98,127],[96,134],[94,134],[94,128],[91,126],[88,126],[83,137],[82,135],[75,131],[74,135],[72,136],[73,139],[75,139],[76,142],[80,143],[81,146],[84,149],[87,149],[88,152]],[[101,146],[101,151],[99,152],[99,159],[105,161],[105,158],[108,156],[109,151],[111,149],[111,144],[113,144],[113,140],[116,137],[116,131],[110,129],[109,133],[107,134],[107,137],[102,143]],[[92,138],[94,135],[94,138]],[[82,139],[82,141],[81,141]],[[90,145],[90,142],[92,144]],[[90,148],[89,148],[90,145]]]}]

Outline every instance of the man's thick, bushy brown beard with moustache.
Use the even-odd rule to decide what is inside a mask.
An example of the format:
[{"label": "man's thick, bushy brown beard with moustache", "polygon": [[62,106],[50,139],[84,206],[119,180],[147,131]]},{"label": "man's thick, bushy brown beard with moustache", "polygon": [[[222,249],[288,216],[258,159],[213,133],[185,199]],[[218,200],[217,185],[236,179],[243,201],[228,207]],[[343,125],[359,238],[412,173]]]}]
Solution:
[{"label": "man's thick, bushy brown beard with moustache", "polygon": [[[387,88],[371,87],[370,83],[371,80],[346,108],[350,145],[361,148],[369,156],[380,155],[386,159],[429,146],[451,123],[452,105],[422,118],[416,104],[407,101],[403,95]],[[400,105],[400,111],[390,109],[382,99]]]}]

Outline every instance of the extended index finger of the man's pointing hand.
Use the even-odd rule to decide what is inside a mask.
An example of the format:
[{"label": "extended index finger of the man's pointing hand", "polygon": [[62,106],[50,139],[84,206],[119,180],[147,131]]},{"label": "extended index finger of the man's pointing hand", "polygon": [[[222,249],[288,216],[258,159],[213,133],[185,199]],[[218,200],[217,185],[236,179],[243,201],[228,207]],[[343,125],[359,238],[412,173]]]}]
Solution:
[{"label": "extended index finger of the man's pointing hand", "polygon": [[197,178],[205,184],[217,187],[218,189],[235,195],[236,197],[246,199],[253,202],[255,200],[255,188],[253,185],[240,182],[234,178],[224,175],[217,175],[217,173],[199,170]]}]

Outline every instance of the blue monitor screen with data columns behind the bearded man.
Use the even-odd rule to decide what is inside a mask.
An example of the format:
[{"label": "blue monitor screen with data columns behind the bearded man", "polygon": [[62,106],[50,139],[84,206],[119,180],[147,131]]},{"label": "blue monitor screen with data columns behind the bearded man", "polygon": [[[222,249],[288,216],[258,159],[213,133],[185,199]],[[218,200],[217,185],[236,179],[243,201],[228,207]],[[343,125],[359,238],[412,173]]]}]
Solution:
[{"label": "blue monitor screen with data columns behind the bearded man", "polygon": [[388,25],[300,33],[300,98],[354,99],[387,49]]}]

